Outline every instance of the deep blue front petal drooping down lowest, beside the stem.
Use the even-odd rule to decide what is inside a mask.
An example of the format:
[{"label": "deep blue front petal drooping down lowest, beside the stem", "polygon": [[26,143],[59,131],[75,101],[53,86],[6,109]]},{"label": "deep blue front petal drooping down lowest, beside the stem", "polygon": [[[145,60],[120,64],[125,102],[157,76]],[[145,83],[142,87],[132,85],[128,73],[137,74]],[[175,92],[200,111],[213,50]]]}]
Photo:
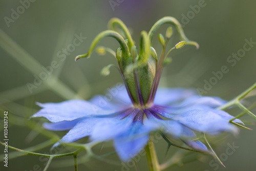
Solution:
[{"label": "deep blue front petal drooping down lowest, beside the stem", "polygon": [[116,152],[122,161],[129,161],[135,157],[149,139],[142,120],[143,113],[137,114],[130,128],[114,139]]}]

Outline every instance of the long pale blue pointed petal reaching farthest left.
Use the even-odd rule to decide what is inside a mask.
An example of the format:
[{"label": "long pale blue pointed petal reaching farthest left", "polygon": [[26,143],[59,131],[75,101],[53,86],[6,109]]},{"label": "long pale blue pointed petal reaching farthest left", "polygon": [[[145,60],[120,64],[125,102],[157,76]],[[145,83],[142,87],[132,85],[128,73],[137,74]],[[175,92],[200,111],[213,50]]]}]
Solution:
[{"label": "long pale blue pointed petal reaching farthest left", "polygon": [[77,118],[94,115],[110,115],[118,110],[103,110],[85,100],[69,100],[60,103],[38,103],[43,109],[32,117],[45,117],[51,122],[71,121]]}]

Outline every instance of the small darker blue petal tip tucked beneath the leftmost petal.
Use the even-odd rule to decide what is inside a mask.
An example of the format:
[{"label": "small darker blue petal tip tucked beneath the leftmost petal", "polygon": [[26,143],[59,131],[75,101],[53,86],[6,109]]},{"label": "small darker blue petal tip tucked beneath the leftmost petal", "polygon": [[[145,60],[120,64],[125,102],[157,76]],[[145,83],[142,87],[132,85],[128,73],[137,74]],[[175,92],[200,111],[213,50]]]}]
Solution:
[{"label": "small darker blue petal tip tucked beneath the leftmost petal", "polygon": [[75,119],[72,121],[61,121],[56,123],[45,122],[43,126],[45,127],[45,129],[51,131],[66,131],[72,129],[72,127],[74,127],[77,122],[79,122],[79,120],[80,119]]}]

